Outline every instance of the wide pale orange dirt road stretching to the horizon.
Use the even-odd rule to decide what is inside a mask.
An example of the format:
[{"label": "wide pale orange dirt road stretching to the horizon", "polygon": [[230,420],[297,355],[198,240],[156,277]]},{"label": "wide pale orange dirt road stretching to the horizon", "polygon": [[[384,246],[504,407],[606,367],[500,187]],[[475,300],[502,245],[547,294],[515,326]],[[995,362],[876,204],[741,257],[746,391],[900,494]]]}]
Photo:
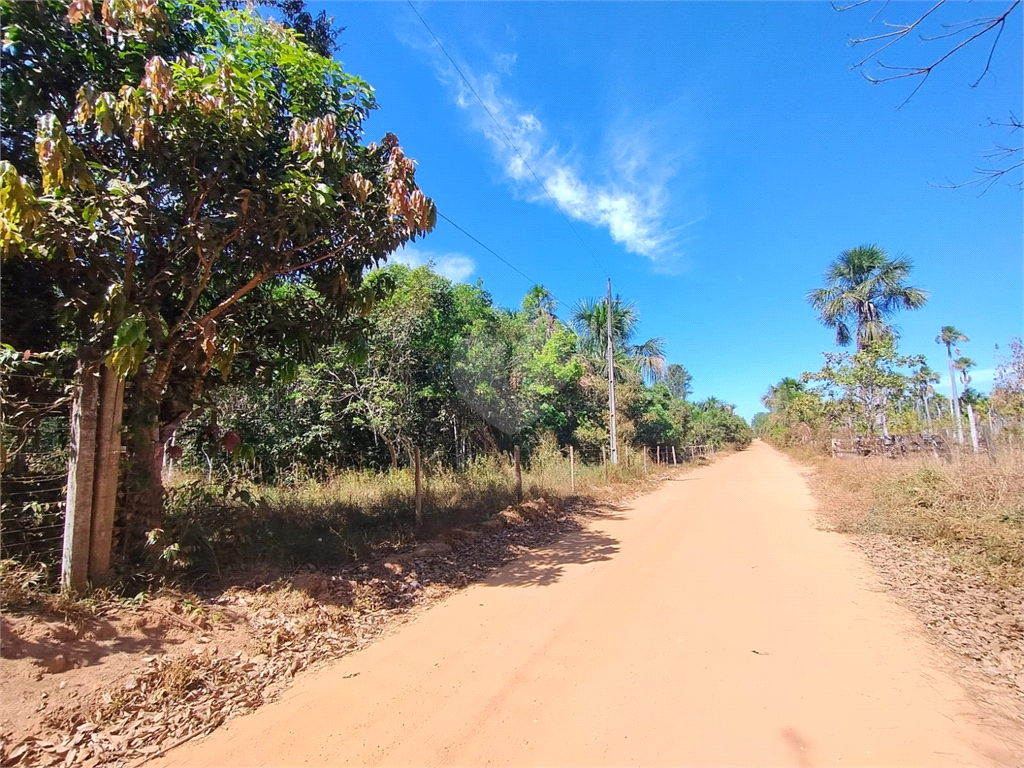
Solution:
[{"label": "wide pale orange dirt road stretching to the horizon", "polygon": [[813,511],[756,442],[150,765],[1021,765]]}]

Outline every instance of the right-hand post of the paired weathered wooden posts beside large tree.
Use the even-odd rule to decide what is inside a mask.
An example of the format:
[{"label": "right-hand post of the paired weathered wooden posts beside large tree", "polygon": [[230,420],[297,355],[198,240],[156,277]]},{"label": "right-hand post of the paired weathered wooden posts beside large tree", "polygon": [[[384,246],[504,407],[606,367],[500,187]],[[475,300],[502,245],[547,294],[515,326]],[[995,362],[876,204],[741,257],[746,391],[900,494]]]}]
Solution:
[{"label": "right-hand post of the paired weathered wooden posts beside large tree", "polygon": [[110,577],[114,517],[121,470],[121,415],[125,380],[103,367],[99,394],[99,429],[96,437],[96,479],[92,496],[92,534],[89,544],[89,581],[99,584]]}]

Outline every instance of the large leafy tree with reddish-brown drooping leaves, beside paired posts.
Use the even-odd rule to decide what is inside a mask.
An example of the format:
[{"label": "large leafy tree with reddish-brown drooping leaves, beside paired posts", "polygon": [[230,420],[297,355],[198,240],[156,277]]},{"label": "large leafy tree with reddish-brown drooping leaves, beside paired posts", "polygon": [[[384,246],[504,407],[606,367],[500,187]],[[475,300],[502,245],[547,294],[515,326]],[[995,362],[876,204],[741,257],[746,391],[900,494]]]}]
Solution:
[{"label": "large leafy tree with reddish-brown drooping leaves, beside paired posts", "polygon": [[364,272],[433,205],[394,136],[361,144],[370,86],[275,22],[152,0],[3,16],[5,311],[43,287],[60,343],[128,377],[128,498],[158,523],[164,442],[204,387],[247,359],[293,372],[342,327],[324,321],[369,311]]}]

